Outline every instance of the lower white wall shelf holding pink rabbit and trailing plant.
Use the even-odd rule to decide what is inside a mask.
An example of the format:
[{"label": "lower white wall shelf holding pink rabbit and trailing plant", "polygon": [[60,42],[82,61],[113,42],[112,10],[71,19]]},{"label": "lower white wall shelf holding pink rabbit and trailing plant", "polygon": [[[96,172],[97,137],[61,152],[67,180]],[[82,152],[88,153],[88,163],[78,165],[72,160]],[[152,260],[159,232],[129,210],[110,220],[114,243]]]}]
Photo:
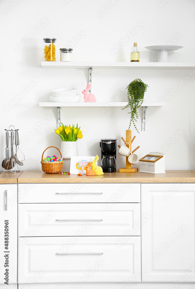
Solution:
[{"label": "lower white wall shelf holding pink rabbit and trailing plant", "polygon": [[[40,102],[39,106],[48,107],[105,107],[125,106],[127,102]],[[141,106],[166,106],[166,102],[143,102]]]}]

